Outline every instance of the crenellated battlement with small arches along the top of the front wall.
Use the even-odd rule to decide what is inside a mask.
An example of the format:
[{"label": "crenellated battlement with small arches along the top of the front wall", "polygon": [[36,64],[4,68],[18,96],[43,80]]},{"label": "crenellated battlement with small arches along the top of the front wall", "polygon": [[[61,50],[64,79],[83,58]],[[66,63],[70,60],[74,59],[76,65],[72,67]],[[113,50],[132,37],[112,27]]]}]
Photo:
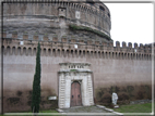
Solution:
[{"label": "crenellated battlement with small arches along the top of the front wall", "polygon": [[[20,38],[19,38],[20,37]],[[140,44],[116,41],[112,42],[85,40],[83,38],[68,39],[63,36],[58,40],[57,36],[38,36],[3,33],[3,53],[4,55],[36,55],[37,43],[40,42],[41,55],[47,56],[75,56],[94,59],[116,59],[116,60],[151,60],[151,44]],[[75,47],[76,46],[76,47]]]}]

